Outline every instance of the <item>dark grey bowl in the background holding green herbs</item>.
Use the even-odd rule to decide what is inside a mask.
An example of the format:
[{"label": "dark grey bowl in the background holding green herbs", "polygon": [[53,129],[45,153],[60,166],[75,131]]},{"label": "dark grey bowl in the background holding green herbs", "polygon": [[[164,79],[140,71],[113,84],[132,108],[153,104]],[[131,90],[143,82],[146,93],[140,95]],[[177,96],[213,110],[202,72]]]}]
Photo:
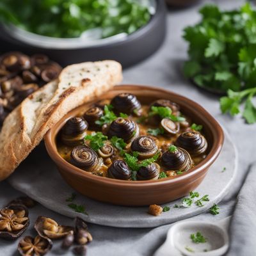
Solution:
[{"label": "dark grey bowl in the background holding green herbs", "polygon": [[166,33],[166,5],[163,0],[157,0],[156,13],[150,22],[124,40],[109,42],[103,45],[91,45],[79,49],[44,49],[13,38],[5,29],[0,30],[1,51],[22,51],[26,54],[44,53],[52,60],[65,67],[72,63],[97,60],[116,60],[123,67],[129,67],[144,60],[157,51],[164,41]]}]

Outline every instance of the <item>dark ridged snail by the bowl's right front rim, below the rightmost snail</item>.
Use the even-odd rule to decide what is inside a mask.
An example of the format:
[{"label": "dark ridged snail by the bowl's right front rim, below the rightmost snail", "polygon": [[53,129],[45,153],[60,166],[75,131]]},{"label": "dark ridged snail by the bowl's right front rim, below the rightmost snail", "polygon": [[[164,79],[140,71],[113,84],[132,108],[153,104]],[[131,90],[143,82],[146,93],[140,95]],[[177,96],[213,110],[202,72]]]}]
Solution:
[{"label": "dark ridged snail by the bowl's right front rim, below the rightmost snail", "polygon": [[166,168],[173,171],[187,172],[193,166],[189,153],[179,147],[175,152],[170,152],[170,150],[164,152],[161,160]]}]

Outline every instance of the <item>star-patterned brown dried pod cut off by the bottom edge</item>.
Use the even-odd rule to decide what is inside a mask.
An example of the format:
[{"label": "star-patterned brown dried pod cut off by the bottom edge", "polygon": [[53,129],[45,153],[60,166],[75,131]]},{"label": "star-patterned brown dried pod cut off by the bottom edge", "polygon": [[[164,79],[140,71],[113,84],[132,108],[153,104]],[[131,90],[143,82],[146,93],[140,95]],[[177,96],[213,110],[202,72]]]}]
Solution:
[{"label": "star-patterned brown dried pod cut off by the bottom edge", "polygon": [[52,242],[50,239],[45,239],[41,236],[35,238],[26,236],[20,240],[18,245],[18,251],[22,256],[41,256],[45,255],[52,248]]}]

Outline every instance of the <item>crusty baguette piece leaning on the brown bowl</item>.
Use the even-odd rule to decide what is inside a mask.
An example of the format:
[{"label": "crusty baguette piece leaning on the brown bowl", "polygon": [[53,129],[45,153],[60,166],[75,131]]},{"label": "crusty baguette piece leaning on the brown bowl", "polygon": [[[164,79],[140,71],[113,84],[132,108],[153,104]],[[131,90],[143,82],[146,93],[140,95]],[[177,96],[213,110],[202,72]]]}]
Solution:
[{"label": "crusty baguette piece leaning on the brown bowl", "polygon": [[122,81],[116,61],[85,62],[64,68],[52,81],[15,108],[0,133],[0,180],[6,179],[68,111]]}]

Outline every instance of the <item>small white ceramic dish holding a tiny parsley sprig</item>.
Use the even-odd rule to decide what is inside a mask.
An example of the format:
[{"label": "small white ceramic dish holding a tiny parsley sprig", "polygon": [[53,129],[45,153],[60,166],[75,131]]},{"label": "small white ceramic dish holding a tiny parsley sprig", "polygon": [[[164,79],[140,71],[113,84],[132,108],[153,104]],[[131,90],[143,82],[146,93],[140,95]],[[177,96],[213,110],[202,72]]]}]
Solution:
[{"label": "small white ceramic dish holding a tiny parsley sprig", "polygon": [[[221,256],[228,250],[228,226],[230,217],[217,223],[203,221],[180,221],[167,233],[166,241],[154,256]],[[206,243],[193,243],[191,234],[200,232]]]}]

